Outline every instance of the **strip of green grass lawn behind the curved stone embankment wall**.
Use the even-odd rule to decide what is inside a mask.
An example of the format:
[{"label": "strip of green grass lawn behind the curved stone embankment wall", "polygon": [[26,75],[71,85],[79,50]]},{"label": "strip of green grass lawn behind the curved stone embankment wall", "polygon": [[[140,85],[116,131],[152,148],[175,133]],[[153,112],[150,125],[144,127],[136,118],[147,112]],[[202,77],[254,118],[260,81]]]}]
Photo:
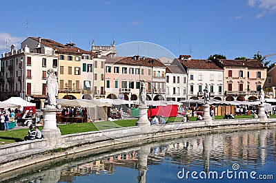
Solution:
[{"label": "strip of green grass lawn behind the curved stone embankment wall", "polygon": [[[271,115],[271,118],[276,118],[276,115]],[[224,116],[215,116],[215,120],[221,120]],[[235,119],[238,118],[253,118],[253,115],[250,116],[235,116]],[[181,122],[183,117],[170,117],[165,118],[168,122]],[[191,116],[190,121],[197,120],[197,117]],[[134,120],[117,120],[117,121],[99,121],[99,122],[86,122],[86,123],[74,123],[66,125],[58,125],[61,135],[67,135],[71,133],[81,133],[86,131],[100,131],[103,129],[114,129],[121,127],[133,127],[135,126]],[[41,129],[42,127],[39,127]],[[0,131],[0,144],[8,144],[13,142],[21,142],[24,140],[24,137],[28,133],[29,129],[14,129],[9,131]]]}]

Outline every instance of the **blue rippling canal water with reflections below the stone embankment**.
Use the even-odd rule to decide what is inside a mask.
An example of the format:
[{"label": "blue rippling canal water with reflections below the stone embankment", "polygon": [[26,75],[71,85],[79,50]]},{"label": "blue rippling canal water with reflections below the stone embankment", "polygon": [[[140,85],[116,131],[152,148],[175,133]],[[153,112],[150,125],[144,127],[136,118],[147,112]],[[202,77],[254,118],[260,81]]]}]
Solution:
[{"label": "blue rippling canal water with reflections below the stone embankment", "polygon": [[43,162],[0,182],[276,182],[276,131],[175,136]]}]

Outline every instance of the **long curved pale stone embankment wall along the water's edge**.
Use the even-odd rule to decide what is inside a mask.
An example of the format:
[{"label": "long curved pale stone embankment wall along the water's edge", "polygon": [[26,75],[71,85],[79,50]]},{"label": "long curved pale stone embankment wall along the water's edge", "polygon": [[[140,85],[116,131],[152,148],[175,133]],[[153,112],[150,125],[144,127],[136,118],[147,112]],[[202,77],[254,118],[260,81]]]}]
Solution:
[{"label": "long curved pale stone embankment wall along the water's edge", "polygon": [[274,118],[268,118],[265,121],[259,119],[213,120],[212,125],[206,125],[205,121],[174,122],[168,125],[151,125],[148,133],[141,131],[141,127],[126,127],[64,135],[61,136],[61,144],[54,146],[49,145],[47,139],[4,144],[0,146],[0,173],[91,149],[108,151],[118,145],[123,147],[143,140],[184,133],[273,125],[276,125]]}]

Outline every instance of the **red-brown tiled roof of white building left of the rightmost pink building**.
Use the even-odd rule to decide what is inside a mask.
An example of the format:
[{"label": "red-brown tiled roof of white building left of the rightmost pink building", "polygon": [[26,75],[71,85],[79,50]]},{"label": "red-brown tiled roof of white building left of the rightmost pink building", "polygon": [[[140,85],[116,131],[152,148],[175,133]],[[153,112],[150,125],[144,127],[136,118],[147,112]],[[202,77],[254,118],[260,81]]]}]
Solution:
[{"label": "red-brown tiled roof of white building left of the rightmost pink building", "polygon": [[182,61],[178,59],[179,62],[186,67],[186,69],[217,69],[223,70],[222,67],[219,67],[215,62],[204,59],[191,59],[187,61]]}]

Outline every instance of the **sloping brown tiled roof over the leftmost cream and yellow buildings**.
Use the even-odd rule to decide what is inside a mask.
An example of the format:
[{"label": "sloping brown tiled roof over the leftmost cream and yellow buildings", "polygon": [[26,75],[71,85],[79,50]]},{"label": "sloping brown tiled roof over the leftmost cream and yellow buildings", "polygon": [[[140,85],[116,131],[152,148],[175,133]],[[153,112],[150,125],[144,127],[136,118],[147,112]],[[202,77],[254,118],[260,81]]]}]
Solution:
[{"label": "sloping brown tiled roof over the leftmost cream and yellow buildings", "polygon": [[[30,37],[30,39],[34,39],[34,41],[39,42],[39,38],[37,37]],[[94,52],[82,50],[81,48],[75,47],[75,46],[69,47],[68,45],[63,45],[56,41],[52,41],[51,39],[41,38],[41,44],[46,45],[48,47],[52,47],[53,49],[57,49],[57,52],[71,53],[71,54],[91,54],[92,56],[97,57],[97,54],[95,54]]]}]

